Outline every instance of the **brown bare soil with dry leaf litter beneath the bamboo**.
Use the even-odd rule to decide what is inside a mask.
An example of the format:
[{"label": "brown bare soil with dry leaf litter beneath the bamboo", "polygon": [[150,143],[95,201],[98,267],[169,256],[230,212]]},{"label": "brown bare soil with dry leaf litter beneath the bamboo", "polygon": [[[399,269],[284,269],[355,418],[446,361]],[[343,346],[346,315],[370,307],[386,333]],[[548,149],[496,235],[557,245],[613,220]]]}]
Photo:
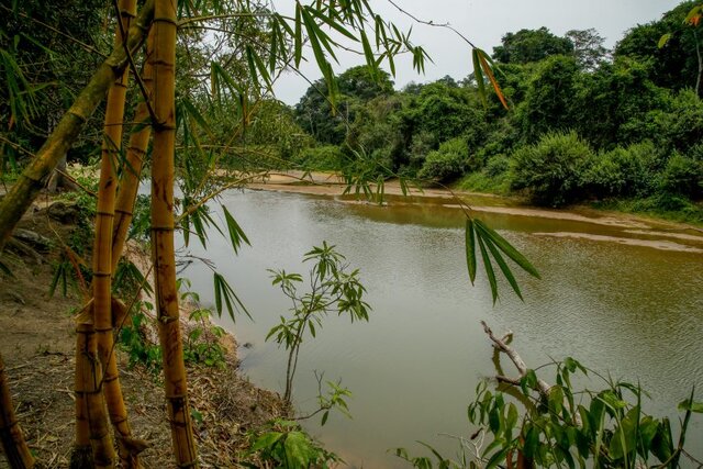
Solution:
[{"label": "brown bare soil with dry leaf litter beneath the bamboo", "polygon": [[[58,208],[63,215],[53,213],[52,208]],[[2,261],[13,277],[0,273],[0,354],[29,446],[38,467],[46,468],[68,467],[74,439],[72,316],[83,298],[70,289],[67,297],[60,289],[51,297],[48,290],[62,248],[58,239],[75,230],[76,216],[70,205],[49,208],[40,201],[19,225],[38,235],[33,237],[36,244],[9,246]],[[232,337],[227,342],[222,368],[188,367],[202,467],[239,467],[247,431],[282,415],[278,394],[254,387],[237,371],[236,344]],[[134,436],[149,444],[142,454],[144,467],[175,467],[159,376],[138,366],[130,368],[125,353],[118,354]],[[0,448],[0,468],[5,467]]]}]

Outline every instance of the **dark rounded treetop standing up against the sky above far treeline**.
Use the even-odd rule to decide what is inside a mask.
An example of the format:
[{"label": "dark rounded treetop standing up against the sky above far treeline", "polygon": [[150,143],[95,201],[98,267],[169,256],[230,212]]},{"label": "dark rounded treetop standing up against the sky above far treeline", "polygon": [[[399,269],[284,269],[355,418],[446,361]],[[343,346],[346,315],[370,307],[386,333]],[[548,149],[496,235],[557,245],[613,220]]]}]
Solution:
[{"label": "dark rounded treetop standing up against the sky above far treeline", "polygon": [[507,33],[493,47],[493,58],[502,64],[528,64],[551,55],[570,55],[574,51],[568,37],[559,37],[546,27]]}]

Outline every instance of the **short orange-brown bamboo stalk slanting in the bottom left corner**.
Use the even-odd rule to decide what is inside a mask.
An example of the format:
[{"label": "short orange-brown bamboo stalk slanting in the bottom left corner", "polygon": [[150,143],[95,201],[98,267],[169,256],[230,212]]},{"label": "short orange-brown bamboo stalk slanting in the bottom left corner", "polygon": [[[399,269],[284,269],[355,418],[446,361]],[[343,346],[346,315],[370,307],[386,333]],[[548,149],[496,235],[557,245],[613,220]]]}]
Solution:
[{"label": "short orange-brown bamboo stalk slanting in the bottom left corner", "polygon": [[0,355],[0,439],[2,448],[12,469],[34,467],[34,457],[26,446],[24,435],[14,415],[12,395],[8,386],[8,373]]}]

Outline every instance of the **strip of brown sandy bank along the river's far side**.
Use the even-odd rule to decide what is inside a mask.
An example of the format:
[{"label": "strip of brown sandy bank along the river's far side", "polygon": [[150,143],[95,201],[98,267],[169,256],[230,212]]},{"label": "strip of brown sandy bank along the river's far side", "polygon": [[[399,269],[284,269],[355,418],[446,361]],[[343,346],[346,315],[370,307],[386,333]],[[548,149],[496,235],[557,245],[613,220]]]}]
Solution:
[{"label": "strip of brown sandy bank along the river's far side", "polygon": [[[289,171],[274,174],[266,180],[253,182],[248,189],[268,190],[309,196],[334,198],[344,203],[368,203],[360,201],[354,191],[344,194],[346,182],[339,176],[325,172]],[[371,186],[376,191],[376,187]],[[554,221],[576,222],[584,226],[593,225],[610,228],[607,233],[590,233],[584,227],[583,232],[553,232],[535,233],[539,236],[579,237],[601,243],[621,243],[637,246],[646,246],[661,250],[678,250],[690,253],[703,253],[703,230],[688,223],[672,222],[651,216],[623,213],[610,210],[596,210],[590,206],[577,205],[569,210],[543,209],[527,206],[515,198],[506,198],[494,194],[454,191],[438,188],[406,188],[406,194],[398,180],[384,183],[383,194],[386,204],[435,204],[457,210],[470,206],[472,212],[479,214],[500,214],[506,216],[524,216],[547,219]]]}]

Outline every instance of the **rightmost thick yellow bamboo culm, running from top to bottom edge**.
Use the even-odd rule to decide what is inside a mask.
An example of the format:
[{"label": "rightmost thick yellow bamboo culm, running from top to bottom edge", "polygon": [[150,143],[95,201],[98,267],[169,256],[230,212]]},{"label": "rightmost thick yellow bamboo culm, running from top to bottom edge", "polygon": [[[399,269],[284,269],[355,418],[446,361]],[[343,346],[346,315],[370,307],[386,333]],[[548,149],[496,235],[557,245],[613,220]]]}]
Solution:
[{"label": "rightmost thick yellow bamboo culm, running from top to bottom edge", "polygon": [[176,288],[174,166],[176,139],[176,0],[154,5],[154,147],[152,153],[152,258],[164,387],[171,440],[179,468],[197,468],[198,454],[188,405]]}]

